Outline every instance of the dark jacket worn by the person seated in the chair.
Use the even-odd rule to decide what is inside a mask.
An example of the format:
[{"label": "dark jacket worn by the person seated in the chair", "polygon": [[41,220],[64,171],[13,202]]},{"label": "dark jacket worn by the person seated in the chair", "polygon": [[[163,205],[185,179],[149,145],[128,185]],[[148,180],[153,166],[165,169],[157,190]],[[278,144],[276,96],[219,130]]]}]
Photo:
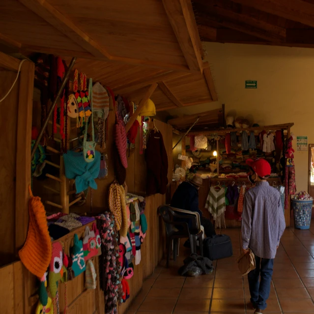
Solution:
[{"label": "dark jacket worn by the person seated in the chair", "polygon": [[196,211],[201,217],[198,189],[189,182],[182,182],[172,196],[171,207]]}]

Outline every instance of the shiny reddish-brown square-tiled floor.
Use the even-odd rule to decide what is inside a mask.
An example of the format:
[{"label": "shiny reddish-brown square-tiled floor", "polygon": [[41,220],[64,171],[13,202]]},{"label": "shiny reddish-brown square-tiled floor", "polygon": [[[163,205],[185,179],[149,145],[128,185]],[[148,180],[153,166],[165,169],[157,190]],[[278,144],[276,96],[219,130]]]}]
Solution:
[{"label": "shiny reddish-brown square-tiled floor", "polygon": [[[242,278],[235,262],[240,255],[240,230],[222,233],[231,237],[234,255],[215,261],[213,274],[180,277],[177,270],[190,253],[180,247],[177,261],[171,261],[169,269],[163,262],[145,280],[127,314],[254,313],[247,278]],[[314,221],[310,230],[285,230],[267,303],[265,313],[314,314]]]}]

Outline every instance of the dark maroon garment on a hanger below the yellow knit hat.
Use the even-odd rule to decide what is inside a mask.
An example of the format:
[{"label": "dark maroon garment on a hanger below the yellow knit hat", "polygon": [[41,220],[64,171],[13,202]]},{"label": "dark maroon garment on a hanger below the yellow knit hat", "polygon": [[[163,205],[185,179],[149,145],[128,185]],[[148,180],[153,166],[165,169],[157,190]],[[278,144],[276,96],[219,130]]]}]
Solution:
[{"label": "dark maroon garment on a hanger below the yellow knit hat", "polygon": [[161,132],[150,131],[145,150],[146,194],[165,194],[168,184],[168,157]]}]

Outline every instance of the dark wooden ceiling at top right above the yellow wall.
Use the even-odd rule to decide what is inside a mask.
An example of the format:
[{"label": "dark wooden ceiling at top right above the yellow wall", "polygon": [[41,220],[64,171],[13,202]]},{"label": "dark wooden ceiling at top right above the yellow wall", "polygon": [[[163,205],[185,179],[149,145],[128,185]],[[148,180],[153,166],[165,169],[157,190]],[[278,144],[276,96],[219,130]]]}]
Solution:
[{"label": "dark wooden ceiling at top right above the yellow wall", "polygon": [[203,41],[314,48],[314,0],[193,0]]}]

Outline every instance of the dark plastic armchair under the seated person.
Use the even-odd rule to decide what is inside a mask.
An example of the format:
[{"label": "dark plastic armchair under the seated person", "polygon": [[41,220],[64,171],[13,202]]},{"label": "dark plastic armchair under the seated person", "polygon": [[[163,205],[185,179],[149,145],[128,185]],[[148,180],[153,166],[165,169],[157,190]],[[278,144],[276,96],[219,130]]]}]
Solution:
[{"label": "dark plastic armchair under the seated person", "polygon": [[[158,207],[158,211],[163,218],[167,233],[167,267],[171,255],[171,244],[173,243],[173,259],[176,260],[178,252],[178,243],[180,238],[189,238],[191,242],[191,253],[197,253],[197,240],[200,243],[200,255],[203,256],[203,231],[200,229],[199,213],[173,208],[168,205]],[[188,219],[192,228],[188,227],[188,223],[179,220]]]}]

